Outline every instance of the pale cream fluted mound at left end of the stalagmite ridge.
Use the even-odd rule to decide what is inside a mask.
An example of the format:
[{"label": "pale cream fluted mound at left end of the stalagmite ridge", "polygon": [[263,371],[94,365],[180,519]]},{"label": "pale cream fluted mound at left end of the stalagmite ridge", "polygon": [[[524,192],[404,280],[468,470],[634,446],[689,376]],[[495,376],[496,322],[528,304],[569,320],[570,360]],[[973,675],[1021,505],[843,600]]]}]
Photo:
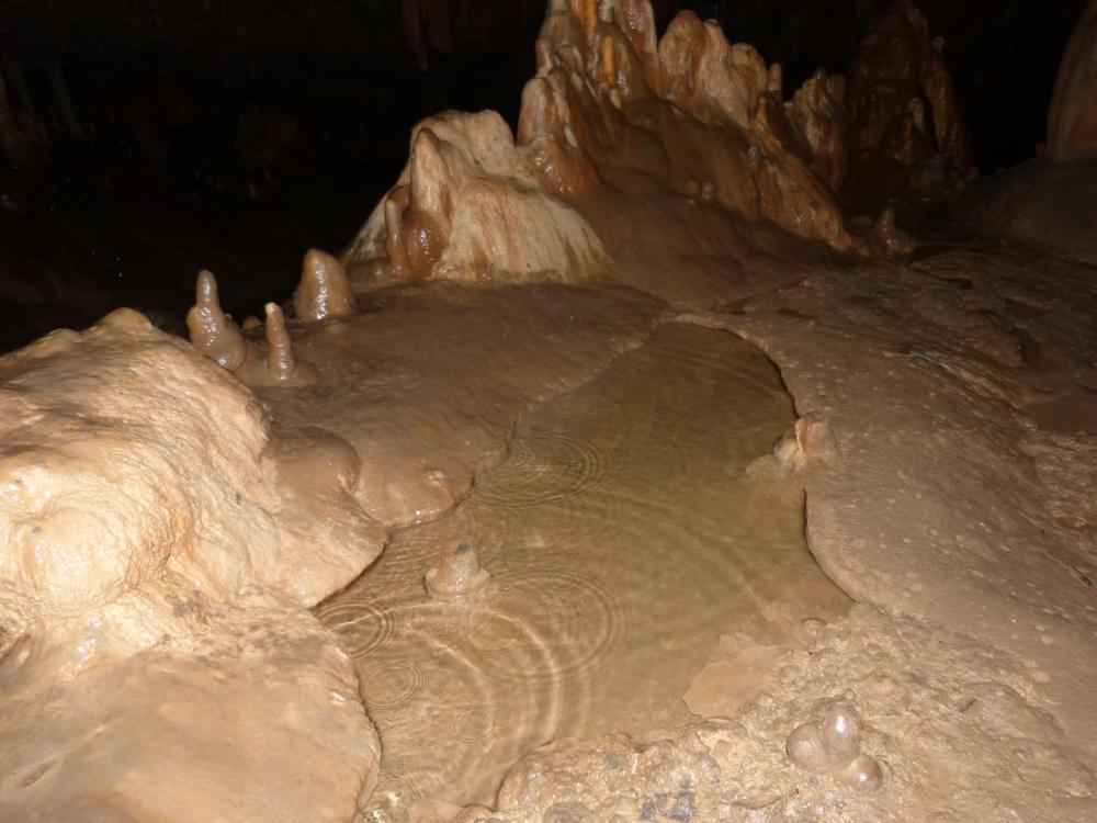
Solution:
[{"label": "pale cream fluted mound at left end of the stalagmite ridge", "polygon": [[352,278],[381,257],[396,280],[570,283],[601,271],[598,237],[539,190],[499,115],[428,119],[411,145],[396,189],[344,256]]}]

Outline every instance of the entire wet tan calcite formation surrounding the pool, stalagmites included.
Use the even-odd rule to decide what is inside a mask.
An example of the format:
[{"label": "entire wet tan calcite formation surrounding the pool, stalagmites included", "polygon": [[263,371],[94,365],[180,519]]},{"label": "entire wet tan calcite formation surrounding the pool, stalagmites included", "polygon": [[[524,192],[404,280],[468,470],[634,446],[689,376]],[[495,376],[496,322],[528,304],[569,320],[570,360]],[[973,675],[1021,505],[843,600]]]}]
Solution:
[{"label": "entire wet tan calcite formation surrounding the pool, stalagmites included", "polygon": [[[1052,158],[1017,178],[1052,181],[1043,202],[1092,200],[1063,179],[1089,162],[1093,8]],[[353,819],[380,746],[305,609],[674,322],[780,367],[799,421],[767,460],[861,602],[805,621],[733,718],[556,741],[495,810],[420,818],[1093,819],[1097,294],[996,244],[870,259],[913,245],[887,199],[970,169],[924,18],[896,4],[848,80],[791,101],[712,22],[658,38],[645,0],[553,0],[536,59],[517,135],[490,112],[415,129],[292,312],[241,329],[203,272],[193,347],[123,311],[0,359],[0,818]],[[983,207],[1036,230],[1016,191]],[[457,548],[426,583],[485,579]]]}]

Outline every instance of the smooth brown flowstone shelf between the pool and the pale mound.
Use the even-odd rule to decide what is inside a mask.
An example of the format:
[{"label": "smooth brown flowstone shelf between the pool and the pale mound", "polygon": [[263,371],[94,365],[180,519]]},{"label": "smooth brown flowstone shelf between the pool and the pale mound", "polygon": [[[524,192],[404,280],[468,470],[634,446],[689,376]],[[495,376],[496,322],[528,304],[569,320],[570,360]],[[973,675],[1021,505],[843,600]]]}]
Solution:
[{"label": "smooth brown flowstone shelf between the pool and the pale mound", "polygon": [[389,296],[383,314],[307,328],[294,357],[317,382],[256,391],[282,425],[315,427],[319,414],[351,444],[362,466],[351,493],[371,517],[422,522],[502,456],[518,415],[641,345],[661,308],[629,291],[432,282]]}]

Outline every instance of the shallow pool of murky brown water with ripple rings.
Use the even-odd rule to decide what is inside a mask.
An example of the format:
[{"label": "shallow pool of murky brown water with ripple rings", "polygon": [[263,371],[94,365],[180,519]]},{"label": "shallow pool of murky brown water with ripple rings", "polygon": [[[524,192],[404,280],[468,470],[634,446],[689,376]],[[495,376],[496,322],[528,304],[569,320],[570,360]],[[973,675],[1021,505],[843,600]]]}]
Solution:
[{"label": "shallow pool of murky brown water with ripple rings", "polygon": [[[419,797],[490,804],[507,768],[556,737],[688,720],[681,696],[721,634],[782,639],[767,606],[842,611],[800,503],[742,478],[792,420],[753,347],[664,327],[532,415],[456,511],[398,533],[319,607],[381,734],[384,819]],[[453,542],[476,544],[491,582],[428,599],[422,575]]]}]

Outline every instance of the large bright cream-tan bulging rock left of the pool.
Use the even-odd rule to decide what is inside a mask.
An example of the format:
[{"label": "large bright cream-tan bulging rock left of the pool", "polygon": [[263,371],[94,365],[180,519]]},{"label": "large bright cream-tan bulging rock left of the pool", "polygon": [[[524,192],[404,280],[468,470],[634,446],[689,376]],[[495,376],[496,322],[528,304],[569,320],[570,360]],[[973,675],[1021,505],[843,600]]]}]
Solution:
[{"label": "large bright cream-tan bulging rock left of the pool", "polygon": [[347,820],[378,747],[304,608],[381,551],[358,455],[127,309],[0,386],[0,818]]}]

